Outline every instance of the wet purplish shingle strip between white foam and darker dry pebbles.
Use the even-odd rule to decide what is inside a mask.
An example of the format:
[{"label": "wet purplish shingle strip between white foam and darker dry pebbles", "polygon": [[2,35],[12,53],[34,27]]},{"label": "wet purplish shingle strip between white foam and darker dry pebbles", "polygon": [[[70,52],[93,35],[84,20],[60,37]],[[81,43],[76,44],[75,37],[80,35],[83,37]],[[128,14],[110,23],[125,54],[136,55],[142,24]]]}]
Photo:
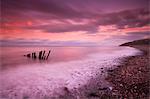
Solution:
[{"label": "wet purplish shingle strip between white foam and darker dry pebbles", "polygon": [[[143,55],[143,54],[142,54]],[[127,61],[130,57],[137,57],[142,56],[137,53],[137,55],[132,56],[125,56],[122,58],[116,59],[120,64],[113,65],[112,67],[108,68],[101,68],[100,71],[102,73],[96,75],[96,77],[89,80],[89,82],[80,87],[77,90],[70,90],[68,93],[72,93],[71,97],[69,99],[118,99],[118,98],[129,98],[128,96],[125,97],[121,95],[120,93],[116,93],[115,86],[112,84],[114,78],[110,77],[110,75],[115,74],[115,70],[121,69],[121,65],[124,64],[124,61]],[[119,74],[116,74],[119,75]],[[112,81],[111,81],[111,80]],[[147,91],[147,90],[146,90]],[[76,94],[78,93],[78,94]],[[69,94],[66,94],[66,96],[63,99],[68,98]],[[77,97],[74,97],[77,96]],[[131,97],[134,98],[134,97]],[[136,98],[137,99],[137,98]],[[144,98],[145,99],[145,98]]]}]

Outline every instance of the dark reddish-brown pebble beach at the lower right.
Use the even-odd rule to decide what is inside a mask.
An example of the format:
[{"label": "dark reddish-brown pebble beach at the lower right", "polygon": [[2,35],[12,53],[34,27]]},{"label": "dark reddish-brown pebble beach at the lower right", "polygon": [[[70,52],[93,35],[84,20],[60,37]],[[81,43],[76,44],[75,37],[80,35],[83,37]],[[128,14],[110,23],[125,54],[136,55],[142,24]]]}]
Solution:
[{"label": "dark reddish-brown pebble beach at the lower right", "polygon": [[108,70],[106,80],[113,86],[109,97],[148,99],[150,97],[149,46],[130,47],[143,51],[143,54],[126,57],[117,68]]}]

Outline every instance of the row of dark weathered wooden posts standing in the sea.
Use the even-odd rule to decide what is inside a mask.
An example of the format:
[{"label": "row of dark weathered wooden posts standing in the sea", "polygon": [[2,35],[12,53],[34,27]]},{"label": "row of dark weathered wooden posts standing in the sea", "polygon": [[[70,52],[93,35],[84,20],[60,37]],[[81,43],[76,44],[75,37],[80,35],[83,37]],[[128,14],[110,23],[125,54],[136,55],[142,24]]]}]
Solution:
[{"label": "row of dark weathered wooden posts standing in the sea", "polygon": [[36,52],[33,53],[29,53],[27,55],[24,55],[27,58],[32,58],[32,59],[39,59],[39,60],[48,60],[48,57],[51,53],[51,50],[49,50],[47,56],[45,55],[45,50],[44,51],[40,51],[39,54],[36,54]]}]

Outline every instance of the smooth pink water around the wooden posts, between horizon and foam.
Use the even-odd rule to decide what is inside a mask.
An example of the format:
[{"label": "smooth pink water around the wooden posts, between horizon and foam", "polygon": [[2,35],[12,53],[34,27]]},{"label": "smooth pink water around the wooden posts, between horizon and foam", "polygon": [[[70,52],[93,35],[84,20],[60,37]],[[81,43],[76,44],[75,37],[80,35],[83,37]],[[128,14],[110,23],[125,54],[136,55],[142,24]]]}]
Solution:
[{"label": "smooth pink water around the wooden posts, between horizon and foam", "polygon": [[[121,47],[1,47],[1,69],[37,63],[42,65],[42,63],[52,64],[80,60],[94,53],[101,53],[102,56],[107,56],[122,49]],[[45,50],[46,55],[51,50],[48,60],[33,60],[23,56],[32,52],[36,52],[38,56],[41,50]]]}]

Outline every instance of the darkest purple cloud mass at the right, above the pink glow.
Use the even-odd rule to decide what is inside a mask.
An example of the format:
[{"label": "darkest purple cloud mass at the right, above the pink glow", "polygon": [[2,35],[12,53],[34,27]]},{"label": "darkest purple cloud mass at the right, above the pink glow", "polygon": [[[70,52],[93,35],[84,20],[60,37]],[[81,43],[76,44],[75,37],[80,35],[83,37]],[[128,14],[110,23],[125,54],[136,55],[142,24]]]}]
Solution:
[{"label": "darkest purple cloud mass at the right, above the pink glow", "polygon": [[119,29],[124,29],[142,27],[149,25],[149,22],[150,16],[148,9],[134,9],[102,15],[97,24],[116,25]]}]

